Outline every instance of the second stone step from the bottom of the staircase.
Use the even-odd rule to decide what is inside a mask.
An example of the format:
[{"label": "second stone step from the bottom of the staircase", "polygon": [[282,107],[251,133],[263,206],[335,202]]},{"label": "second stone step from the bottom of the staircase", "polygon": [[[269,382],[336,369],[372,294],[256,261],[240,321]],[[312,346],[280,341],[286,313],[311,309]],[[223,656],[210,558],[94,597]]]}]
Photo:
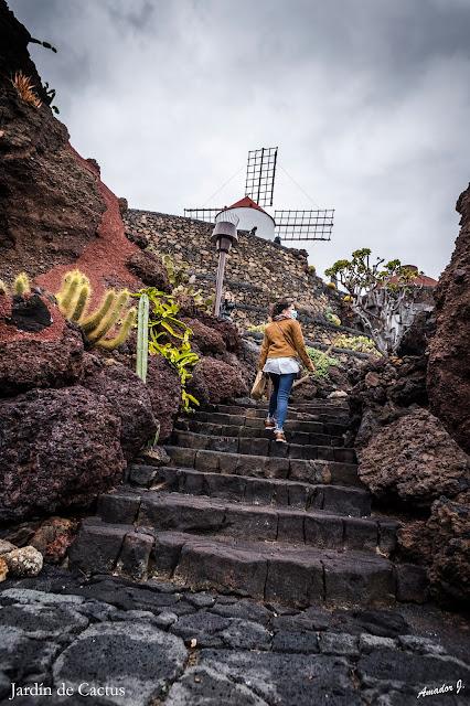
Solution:
[{"label": "second stone step from the bottom of the staircase", "polygon": [[397,522],[345,517],[322,510],[300,510],[229,502],[207,495],[119,489],[99,498],[104,522],[211,534],[214,538],[306,544],[325,549],[360,549],[389,556],[396,545]]}]

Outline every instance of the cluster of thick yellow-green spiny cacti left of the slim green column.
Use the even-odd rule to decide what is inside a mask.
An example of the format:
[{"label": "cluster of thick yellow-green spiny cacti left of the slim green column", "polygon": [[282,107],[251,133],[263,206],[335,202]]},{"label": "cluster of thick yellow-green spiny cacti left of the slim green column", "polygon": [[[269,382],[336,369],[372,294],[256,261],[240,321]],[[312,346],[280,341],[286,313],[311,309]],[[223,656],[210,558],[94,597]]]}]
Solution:
[{"label": "cluster of thick yellow-green spiny cacti left of the slim green column", "polygon": [[129,292],[125,289],[105,292],[100,306],[88,313],[92,287],[88,278],[78,269],[66,272],[61,290],[56,295],[61,312],[66,319],[77,323],[87,341],[108,350],[115,349],[127,339],[136,323],[136,309],[129,309],[124,317],[119,332],[110,339],[107,333],[119,322],[124,309],[129,301]]}]

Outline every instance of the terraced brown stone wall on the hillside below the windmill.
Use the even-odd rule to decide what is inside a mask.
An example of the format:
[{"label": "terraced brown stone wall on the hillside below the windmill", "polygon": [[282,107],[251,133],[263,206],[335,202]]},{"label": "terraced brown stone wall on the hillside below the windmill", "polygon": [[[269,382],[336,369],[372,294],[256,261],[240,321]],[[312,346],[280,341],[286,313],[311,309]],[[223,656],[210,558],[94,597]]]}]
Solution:
[{"label": "terraced brown stone wall on the hillside below the windmill", "polygon": [[[124,220],[131,239],[147,240],[160,254],[186,260],[197,286],[207,296],[214,293],[217,255],[211,243],[213,224],[133,208],[124,214]],[[234,297],[233,319],[241,329],[266,322],[269,304],[288,296],[298,304],[307,335],[316,341],[330,343],[338,332],[357,335],[357,331],[339,330],[325,320],[328,308],[343,323],[348,323],[349,312],[340,296],[309,271],[306,250],[277,245],[245,231],[238,236],[227,258],[225,292]]]}]

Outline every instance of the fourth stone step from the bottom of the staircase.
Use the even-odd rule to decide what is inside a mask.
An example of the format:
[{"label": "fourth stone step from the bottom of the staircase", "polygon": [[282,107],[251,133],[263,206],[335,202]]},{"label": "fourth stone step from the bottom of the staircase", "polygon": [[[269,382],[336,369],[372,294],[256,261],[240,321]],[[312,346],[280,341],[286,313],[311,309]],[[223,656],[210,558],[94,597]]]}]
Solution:
[{"label": "fourth stone step from the bottom of the staircase", "polygon": [[204,449],[186,449],[165,446],[172,463],[179,468],[195,468],[197,471],[252,475],[255,478],[285,478],[313,484],[355,485],[363,488],[355,463],[339,461],[305,461],[243,453],[221,453]]}]

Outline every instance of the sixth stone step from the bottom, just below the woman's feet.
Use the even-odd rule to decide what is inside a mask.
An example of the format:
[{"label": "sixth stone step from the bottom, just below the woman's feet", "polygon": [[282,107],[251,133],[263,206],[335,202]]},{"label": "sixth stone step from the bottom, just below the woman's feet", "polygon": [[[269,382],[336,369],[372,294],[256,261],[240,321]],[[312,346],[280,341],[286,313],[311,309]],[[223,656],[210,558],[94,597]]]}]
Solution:
[{"label": "sixth stone step from the bottom, just below the woman's feet", "polygon": [[[323,425],[319,425],[322,429]],[[242,437],[244,439],[273,439],[273,431],[263,427],[234,427],[229,425],[211,424],[210,421],[197,421],[195,419],[180,418],[175,428],[181,431],[194,431],[195,434],[206,434],[216,437]],[[286,431],[291,443],[307,446],[343,446],[342,436],[331,436],[329,434],[317,434],[306,431]]]}]

